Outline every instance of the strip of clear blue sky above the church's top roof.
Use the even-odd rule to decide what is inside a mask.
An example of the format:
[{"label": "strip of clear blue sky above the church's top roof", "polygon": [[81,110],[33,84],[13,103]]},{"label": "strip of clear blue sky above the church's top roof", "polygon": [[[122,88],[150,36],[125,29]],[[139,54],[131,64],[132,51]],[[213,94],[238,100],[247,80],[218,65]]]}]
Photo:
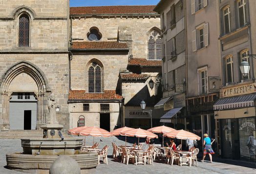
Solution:
[{"label": "strip of clear blue sky above the church's top roof", "polygon": [[70,0],[70,7],[109,5],[156,5],[160,0]]}]

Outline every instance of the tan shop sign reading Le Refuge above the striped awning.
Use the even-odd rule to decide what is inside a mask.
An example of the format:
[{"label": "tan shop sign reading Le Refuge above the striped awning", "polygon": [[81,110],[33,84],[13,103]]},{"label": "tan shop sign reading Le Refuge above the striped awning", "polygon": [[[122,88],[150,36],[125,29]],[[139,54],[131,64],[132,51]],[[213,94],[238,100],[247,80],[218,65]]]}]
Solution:
[{"label": "tan shop sign reading Le Refuge above the striped awning", "polygon": [[256,83],[224,88],[223,97],[232,97],[254,92],[256,92]]}]

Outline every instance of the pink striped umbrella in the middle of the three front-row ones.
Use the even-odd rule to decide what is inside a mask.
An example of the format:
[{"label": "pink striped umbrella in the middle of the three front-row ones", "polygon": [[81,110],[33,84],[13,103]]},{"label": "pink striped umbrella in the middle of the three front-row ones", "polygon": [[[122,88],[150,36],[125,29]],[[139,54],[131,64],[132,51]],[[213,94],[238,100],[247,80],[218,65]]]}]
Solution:
[{"label": "pink striped umbrella in the middle of the three front-row ones", "polygon": [[128,136],[128,137],[138,137],[138,144],[139,144],[139,140],[140,138],[150,138],[150,139],[154,139],[154,138],[157,138],[158,139],[158,136],[153,134],[152,132],[149,132],[147,130],[144,130],[144,129],[141,129],[141,128],[138,128],[138,129],[131,129],[131,130],[128,130],[128,131],[121,131],[120,135],[122,136]]}]

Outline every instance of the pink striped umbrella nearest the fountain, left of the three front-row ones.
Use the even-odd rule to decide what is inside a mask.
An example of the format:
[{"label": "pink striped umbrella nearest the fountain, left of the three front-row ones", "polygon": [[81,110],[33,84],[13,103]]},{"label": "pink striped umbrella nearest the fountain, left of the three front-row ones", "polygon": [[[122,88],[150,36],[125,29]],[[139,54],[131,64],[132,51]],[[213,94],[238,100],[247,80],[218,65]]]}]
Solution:
[{"label": "pink striped umbrella nearest the fountain, left of the three front-row ones", "polygon": [[87,127],[83,131],[81,131],[79,135],[92,136],[93,144],[94,144],[94,137],[110,137],[112,136],[112,133],[99,127]]}]

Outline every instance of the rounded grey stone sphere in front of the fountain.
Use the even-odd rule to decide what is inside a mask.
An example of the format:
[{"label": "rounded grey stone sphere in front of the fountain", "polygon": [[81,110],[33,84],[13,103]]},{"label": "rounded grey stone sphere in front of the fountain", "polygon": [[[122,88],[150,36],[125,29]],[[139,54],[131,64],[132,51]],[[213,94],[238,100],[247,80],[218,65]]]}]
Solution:
[{"label": "rounded grey stone sphere in front of the fountain", "polygon": [[50,174],[81,174],[81,169],[75,159],[62,155],[52,163]]}]

